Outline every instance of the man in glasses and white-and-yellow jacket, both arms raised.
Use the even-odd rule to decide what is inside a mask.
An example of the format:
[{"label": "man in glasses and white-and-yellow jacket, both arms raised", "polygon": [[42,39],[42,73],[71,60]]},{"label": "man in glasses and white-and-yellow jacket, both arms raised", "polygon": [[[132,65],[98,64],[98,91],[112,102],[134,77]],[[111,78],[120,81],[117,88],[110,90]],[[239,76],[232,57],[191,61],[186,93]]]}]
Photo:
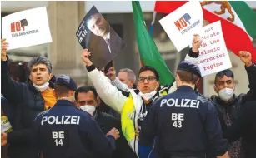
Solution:
[{"label": "man in glasses and white-and-yellow jacket, both arms raised", "polygon": [[[201,41],[198,36],[194,39],[193,51],[198,51]],[[192,50],[190,49],[191,52]],[[103,101],[108,106],[111,106],[113,110],[121,113],[123,135],[130,147],[138,155],[138,135],[135,135],[135,129],[138,134],[139,126],[147,115],[148,109],[153,101],[158,96],[164,96],[168,92],[173,92],[175,90],[175,84],[171,88],[169,86],[159,88],[158,72],[153,67],[144,66],[139,71],[138,90],[128,89],[128,91],[119,91],[117,87],[109,82],[109,79],[102,72],[93,66],[93,62],[88,58],[90,55],[91,52],[85,49],[81,56],[87,66],[88,77],[93,82],[93,86]]]}]

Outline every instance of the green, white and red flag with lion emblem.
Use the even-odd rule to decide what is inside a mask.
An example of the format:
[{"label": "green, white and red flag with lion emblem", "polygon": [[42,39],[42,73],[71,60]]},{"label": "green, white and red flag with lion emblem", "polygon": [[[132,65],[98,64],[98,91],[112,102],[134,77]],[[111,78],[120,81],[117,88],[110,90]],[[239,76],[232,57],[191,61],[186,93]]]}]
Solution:
[{"label": "green, white and red flag with lion emblem", "polygon": [[[154,11],[170,13],[186,2],[157,1]],[[203,18],[209,23],[221,21],[223,36],[230,51],[252,53],[256,62],[256,49],[252,40],[256,38],[256,12],[243,1],[201,1]],[[193,9],[193,8],[191,8]]]}]

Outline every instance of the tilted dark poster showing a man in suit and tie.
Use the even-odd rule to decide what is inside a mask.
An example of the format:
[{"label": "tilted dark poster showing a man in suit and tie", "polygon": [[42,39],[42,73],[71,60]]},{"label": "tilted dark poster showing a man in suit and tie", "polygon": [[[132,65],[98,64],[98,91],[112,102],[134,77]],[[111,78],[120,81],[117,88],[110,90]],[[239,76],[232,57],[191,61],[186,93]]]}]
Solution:
[{"label": "tilted dark poster showing a man in suit and tie", "polygon": [[90,60],[99,70],[125,47],[123,39],[113,30],[96,7],[92,7],[76,32],[83,49],[91,52]]}]

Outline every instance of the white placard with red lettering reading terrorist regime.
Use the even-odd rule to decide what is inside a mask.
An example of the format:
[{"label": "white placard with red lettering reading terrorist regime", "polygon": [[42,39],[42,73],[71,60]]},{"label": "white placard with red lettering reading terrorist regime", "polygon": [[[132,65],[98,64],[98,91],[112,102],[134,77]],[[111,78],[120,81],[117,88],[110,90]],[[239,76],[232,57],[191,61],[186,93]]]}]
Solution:
[{"label": "white placard with red lettering reading terrorist regime", "polygon": [[221,22],[213,22],[203,27],[202,44],[199,48],[198,67],[202,77],[231,68],[232,64],[224,41]]}]

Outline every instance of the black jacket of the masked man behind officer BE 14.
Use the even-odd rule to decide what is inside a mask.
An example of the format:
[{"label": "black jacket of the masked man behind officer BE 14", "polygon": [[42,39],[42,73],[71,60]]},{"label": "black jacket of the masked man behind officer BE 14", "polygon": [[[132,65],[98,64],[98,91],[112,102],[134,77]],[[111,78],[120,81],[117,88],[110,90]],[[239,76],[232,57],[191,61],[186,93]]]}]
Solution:
[{"label": "black jacket of the masked man behind officer BE 14", "polygon": [[116,150],[113,152],[112,158],[137,158],[136,154],[133,152],[130,146],[128,146],[128,141],[126,141],[122,134],[121,121],[118,121],[118,119],[114,116],[101,112],[99,108],[97,108],[94,118],[98,122],[98,125],[104,134],[107,134],[108,131],[113,129],[113,127],[120,131],[120,138],[118,138],[116,141]]}]

